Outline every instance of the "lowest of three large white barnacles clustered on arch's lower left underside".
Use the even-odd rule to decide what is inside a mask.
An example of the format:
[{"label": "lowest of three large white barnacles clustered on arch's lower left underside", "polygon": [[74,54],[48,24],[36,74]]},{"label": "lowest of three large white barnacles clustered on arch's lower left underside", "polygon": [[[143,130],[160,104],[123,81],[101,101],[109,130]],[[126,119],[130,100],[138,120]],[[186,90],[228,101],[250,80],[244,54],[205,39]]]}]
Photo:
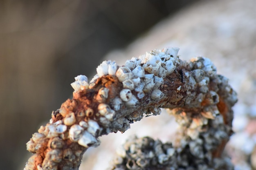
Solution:
[{"label": "lowest of three large white barnacles clustered on arch's lower left underside", "polygon": [[78,140],[78,144],[88,148],[90,146],[97,147],[99,146],[100,142],[96,139],[96,137],[94,137],[94,135],[85,130]]}]

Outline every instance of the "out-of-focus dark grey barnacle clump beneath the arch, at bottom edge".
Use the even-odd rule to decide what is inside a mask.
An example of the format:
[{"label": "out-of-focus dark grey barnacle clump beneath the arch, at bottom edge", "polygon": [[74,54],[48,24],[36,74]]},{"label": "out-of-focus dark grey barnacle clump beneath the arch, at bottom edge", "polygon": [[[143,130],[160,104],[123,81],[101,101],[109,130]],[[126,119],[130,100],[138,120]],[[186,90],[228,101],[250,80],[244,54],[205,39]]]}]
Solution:
[{"label": "out-of-focus dark grey barnacle clump beneath the arch, at bottom edge", "polygon": [[202,150],[203,140],[182,141],[175,148],[150,137],[131,137],[117,149],[110,170],[232,170],[228,158],[213,158]]}]

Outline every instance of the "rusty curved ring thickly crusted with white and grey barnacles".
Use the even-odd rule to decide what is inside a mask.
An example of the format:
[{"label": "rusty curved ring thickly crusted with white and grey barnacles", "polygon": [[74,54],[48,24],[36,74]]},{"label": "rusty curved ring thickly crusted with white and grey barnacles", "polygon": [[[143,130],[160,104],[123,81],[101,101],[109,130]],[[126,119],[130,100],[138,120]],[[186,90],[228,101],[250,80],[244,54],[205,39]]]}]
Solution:
[{"label": "rusty curved ring thickly crusted with white and grey barnacles", "polygon": [[[160,108],[170,109],[180,123],[177,140],[183,141],[182,146],[135,138],[121,151],[114,169],[143,169],[150,163],[162,168],[198,168],[193,165],[204,159],[207,167],[213,165],[221,156],[221,151],[215,152],[231,135],[236,93],[225,77],[216,74],[209,59],[184,62],[177,56],[178,50],[150,51],[132,57],[124,66],[104,61],[90,83],[84,75],[75,77],[73,99],[54,111],[49,123],[27,142],[27,150],[35,155],[25,170],[78,170],[87,148],[99,146],[99,136],[125,132],[144,115],[160,114]],[[180,166],[173,155],[183,159],[188,155],[184,153],[199,161],[191,165],[187,157],[187,164]]]}]

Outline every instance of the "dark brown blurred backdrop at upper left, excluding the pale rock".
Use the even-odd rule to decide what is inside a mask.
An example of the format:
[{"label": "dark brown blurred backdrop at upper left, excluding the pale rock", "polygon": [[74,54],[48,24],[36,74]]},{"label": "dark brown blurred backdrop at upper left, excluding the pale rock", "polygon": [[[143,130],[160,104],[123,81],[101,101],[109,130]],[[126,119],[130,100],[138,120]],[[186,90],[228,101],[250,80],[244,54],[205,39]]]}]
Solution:
[{"label": "dark brown blurred backdrop at upper left, excluding the pale rock", "polygon": [[197,0],[1,0],[0,169],[16,170],[25,143],[110,50],[124,48]]}]

